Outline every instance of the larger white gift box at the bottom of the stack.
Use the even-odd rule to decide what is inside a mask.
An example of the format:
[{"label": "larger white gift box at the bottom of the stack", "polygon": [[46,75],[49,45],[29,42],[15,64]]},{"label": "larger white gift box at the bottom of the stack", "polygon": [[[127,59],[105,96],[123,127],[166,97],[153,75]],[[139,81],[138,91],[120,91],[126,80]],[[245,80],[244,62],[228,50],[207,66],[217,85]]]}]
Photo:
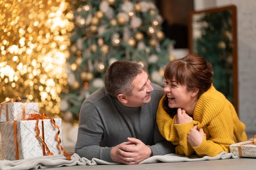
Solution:
[{"label": "larger white gift box at the bottom of the stack", "polygon": [[[17,143],[15,146],[14,121],[0,123],[0,132],[2,135],[2,145],[0,148],[0,157],[7,160],[16,160],[16,152],[19,152],[20,159],[34,158],[43,155],[43,145],[36,138],[36,121],[37,120],[20,120],[17,121]],[[59,130],[54,128],[50,119],[43,119],[44,141],[54,155],[62,154],[58,148],[56,133],[59,132],[60,145],[63,146],[61,119],[55,119]],[[39,119],[39,136],[42,136],[42,120]],[[18,148],[18,151],[17,151]],[[45,153],[46,150],[45,150]]]}]

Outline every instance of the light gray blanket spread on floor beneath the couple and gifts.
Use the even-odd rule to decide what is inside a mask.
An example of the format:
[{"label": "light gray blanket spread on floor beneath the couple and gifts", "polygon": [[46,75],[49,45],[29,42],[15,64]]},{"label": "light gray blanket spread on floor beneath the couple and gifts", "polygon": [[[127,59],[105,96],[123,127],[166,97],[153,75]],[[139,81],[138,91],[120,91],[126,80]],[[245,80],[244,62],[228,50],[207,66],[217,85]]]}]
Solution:
[{"label": "light gray blanket spread on floor beneath the couple and gifts", "polygon": [[[157,155],[152,156],[144,161],[140,162],[140,164],[148,164],[148,163],[157,163],[157,162],[186,162],[186,161],[202,161],[202,160],[216,160],[216,159],[229,159],[229,158],[239,158],[235,156],[233,153],[222,152],[219,153],[215,157],[198,157],[197,155],[193,155],[190,157],[186,157],[183,155],[177,155],[175,153],[166,154],[166,155]],[[76,166],[76,165],[113,165],[117,163],[110,163],[100,159],[93,158],[89,160],[85,157],[80,157],[78,154],[74,153],[71,156],[71,160],[66,160],[64,155],[53,155],[53,156],[41,156],[37,158],[31,159],[22,159],[22,160],[2,160],[0,161],[0,170],[29,170],[29,169],[43,169],[43,168],[54,168],[61,166]]]}]

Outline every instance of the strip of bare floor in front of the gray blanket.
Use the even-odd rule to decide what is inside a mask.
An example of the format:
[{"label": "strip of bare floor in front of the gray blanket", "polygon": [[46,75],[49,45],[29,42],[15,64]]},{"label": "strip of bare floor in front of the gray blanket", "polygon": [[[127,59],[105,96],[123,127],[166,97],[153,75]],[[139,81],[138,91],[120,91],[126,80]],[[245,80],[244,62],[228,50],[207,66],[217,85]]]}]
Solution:
[{"label": "strip of bare floor in front of the gray blanket", "polygon": [[46,170],[255,170],[256,158],[139,165],[94,165],[49,168]]}]

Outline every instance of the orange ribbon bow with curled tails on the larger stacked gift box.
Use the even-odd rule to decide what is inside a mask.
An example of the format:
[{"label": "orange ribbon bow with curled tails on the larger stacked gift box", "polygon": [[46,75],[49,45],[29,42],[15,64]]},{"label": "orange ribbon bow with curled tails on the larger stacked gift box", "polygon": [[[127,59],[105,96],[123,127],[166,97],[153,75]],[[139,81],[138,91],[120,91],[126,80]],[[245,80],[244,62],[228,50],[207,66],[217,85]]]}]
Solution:
[{"label": "orange ribbon bow with curled tails on the larger stacked gift box", "polygon": [[[55,120],[53,118],[46,117],[45,113],[30,114],[28,120],[37,120],[37,123],[36,123],[36,138],[38,138],[42,142],[43,146],[45,147],[45,149],[47,151],[47,155],[53,155],[53,153],[50,152],[50,150],[47,147],[47,144],[44,142],[44,137],[39,136],[39,127],[38,127],[39,119],[51,119],[51,122],[52,122],[53,126],[56,129],[58,129],[58,132],[56,133],[56,140],[58,141],[58,148],[66,156],[67,160],[70,160],[71,156],[67,152],[65,152],[63,147],[60,145],[61,141],[60,141],[60,137],[59,137],[59,126],[55,123]],[[43,133],[43,130],[42,130],[42,133]]]}]

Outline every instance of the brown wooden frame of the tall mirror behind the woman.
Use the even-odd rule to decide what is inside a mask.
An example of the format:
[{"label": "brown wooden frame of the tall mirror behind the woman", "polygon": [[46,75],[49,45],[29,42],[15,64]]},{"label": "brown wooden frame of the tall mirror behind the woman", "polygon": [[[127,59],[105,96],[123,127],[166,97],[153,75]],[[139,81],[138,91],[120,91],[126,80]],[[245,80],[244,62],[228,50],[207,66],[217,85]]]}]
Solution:
[{"label": "brown wooden frame of the tall mirror behind the woman", "polygon": [[202,11],[191,11],[189,14],[189,24],[188,24],[188,46],[189,46],[189,52],[193,52],[193,16],[197,14],[209,14],[209,13],[214,13],[214,12],[220,12],[224,10],[231,10],[232,11],[232,26],[233,26],[233,31],[232,31],[232,37],[233,37],[233,67],[232,67],[232,74],[233,74],[233,105],[236,109],[236,113],[238,115],[238,66],[237,66],[237,17],[236,17],[236,6],[235,5],[229,5],[229,6],[224,6],[224,7],[218,7],[218,8],[211,8],[211,9],[206,9]]}]

